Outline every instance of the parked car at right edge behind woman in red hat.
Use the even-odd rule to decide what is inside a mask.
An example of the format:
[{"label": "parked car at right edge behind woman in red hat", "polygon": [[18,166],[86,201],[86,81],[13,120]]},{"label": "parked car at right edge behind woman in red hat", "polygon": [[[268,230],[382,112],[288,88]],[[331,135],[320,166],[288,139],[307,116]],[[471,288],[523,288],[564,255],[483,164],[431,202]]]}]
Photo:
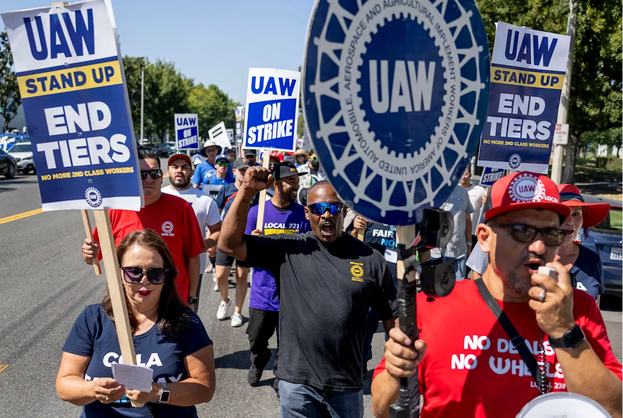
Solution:
[{"label": "parked car at right edge behind woman in red hat", "polygon": [[610,213],[589,231],[582,245],[595,251],[604,265],[606,293],[623,297],[623,202],[582,195],[587,203],[610,203]]}]

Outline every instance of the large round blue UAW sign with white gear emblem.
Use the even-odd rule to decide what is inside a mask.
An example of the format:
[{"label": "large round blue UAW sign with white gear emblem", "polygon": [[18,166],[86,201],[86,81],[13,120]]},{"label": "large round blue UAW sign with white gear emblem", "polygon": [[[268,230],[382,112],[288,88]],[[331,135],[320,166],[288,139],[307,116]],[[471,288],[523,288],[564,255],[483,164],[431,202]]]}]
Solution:
[{"label": "large round blue UAW sign with white gear emblem", "polygon": [[410,225],[447,200],[487,112],[473,0],[317,0],[303,76],[314,147],[348,205]]}]

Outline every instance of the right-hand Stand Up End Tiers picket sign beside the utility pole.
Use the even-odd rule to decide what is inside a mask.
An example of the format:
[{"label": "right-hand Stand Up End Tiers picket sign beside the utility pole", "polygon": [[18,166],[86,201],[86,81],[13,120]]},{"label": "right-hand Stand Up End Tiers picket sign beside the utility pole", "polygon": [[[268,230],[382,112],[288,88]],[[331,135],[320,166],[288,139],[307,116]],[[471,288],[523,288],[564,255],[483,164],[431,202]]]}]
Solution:
[{"label": "right-hand Stand Up End Tiers picket sign beside the utility pole", "polygon": [[570,41],[498,22],[478,165],[548,172]]}]

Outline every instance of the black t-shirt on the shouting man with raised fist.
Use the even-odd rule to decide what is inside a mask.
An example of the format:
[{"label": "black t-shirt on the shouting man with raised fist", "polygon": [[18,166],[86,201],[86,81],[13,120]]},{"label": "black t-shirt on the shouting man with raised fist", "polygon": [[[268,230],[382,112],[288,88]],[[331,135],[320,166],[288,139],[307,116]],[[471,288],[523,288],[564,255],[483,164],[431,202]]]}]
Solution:
[{"label": "black t-shirt on the shouting man with raised fist", "polygon": [[277,377],[326,391],[361,390],[368,309],[381,321],[394,318],[383,256],[348,234],[328,245],[311,231],[245,241],[245,265],[270,270],[277,281]]}]

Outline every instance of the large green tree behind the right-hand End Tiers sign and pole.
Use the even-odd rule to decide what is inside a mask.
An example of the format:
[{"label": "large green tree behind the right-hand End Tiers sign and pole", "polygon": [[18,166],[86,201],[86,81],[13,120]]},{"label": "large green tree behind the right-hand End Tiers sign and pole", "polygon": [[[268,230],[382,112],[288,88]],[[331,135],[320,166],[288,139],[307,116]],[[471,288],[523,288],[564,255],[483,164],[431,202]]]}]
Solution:
[{"label": "large green tree behind the right-hand End Tiers sign and pole", "polygon": [[[573,183],[584,132],[623,125],[623,2],[576,0],[578,14],[563,182]],[[564,34],[569,0],[479,0],[493,49],[495,22]]]}]

